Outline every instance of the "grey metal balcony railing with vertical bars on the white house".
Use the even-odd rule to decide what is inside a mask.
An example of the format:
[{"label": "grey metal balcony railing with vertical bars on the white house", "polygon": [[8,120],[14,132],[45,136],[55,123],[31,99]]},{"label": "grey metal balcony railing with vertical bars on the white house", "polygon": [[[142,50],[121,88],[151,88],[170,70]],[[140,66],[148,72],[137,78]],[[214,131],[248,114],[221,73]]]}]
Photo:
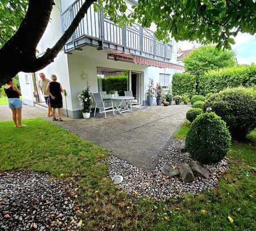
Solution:
[{"label": "grey metal balcony railing with vertical bars on the white house", "polygon": [[[67,30],[84,1],[75,1],[61,14],[63,32]],[[69,52],[83,45],[114,49],[156,60],[168,61],[172,56],[172,43],[156,40],[153,31],[136,23],[132,27],[119,27],[108,17],[104,17],[101,11],[95,12],[93,6],[88,9],[64,49]]]}]

